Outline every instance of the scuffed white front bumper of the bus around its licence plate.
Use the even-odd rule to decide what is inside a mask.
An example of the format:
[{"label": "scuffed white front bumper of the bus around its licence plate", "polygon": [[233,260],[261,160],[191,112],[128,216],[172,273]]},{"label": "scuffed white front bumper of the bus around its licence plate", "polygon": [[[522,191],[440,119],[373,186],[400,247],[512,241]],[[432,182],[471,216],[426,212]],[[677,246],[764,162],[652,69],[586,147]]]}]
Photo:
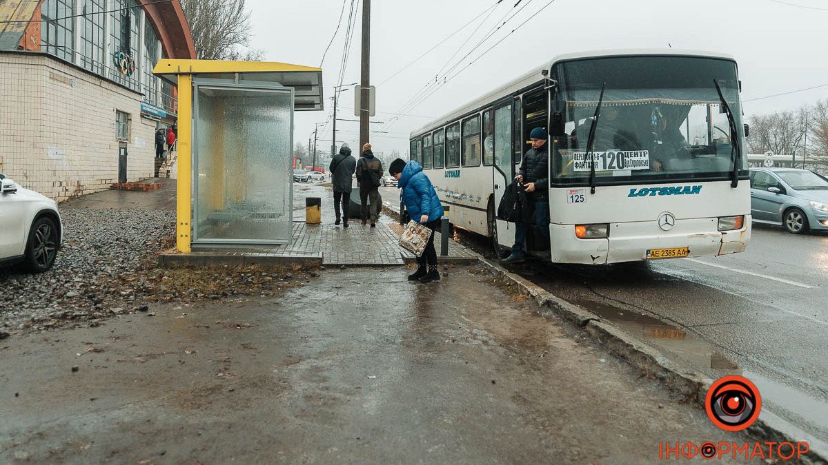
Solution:
[{"label": "scuffed white front bumper of the bus around its licence plate", "polygon": [[609,238],[578,239],[575,225],[550,224],[551,261],[602,265],[647,260],[647,250],[689,249],[690,256],[718,256],[744,252],[750,241],[750,215],[735,231],[718,231],[719,218],[676,220],[664,232],[656,222],[611,223]]}]

